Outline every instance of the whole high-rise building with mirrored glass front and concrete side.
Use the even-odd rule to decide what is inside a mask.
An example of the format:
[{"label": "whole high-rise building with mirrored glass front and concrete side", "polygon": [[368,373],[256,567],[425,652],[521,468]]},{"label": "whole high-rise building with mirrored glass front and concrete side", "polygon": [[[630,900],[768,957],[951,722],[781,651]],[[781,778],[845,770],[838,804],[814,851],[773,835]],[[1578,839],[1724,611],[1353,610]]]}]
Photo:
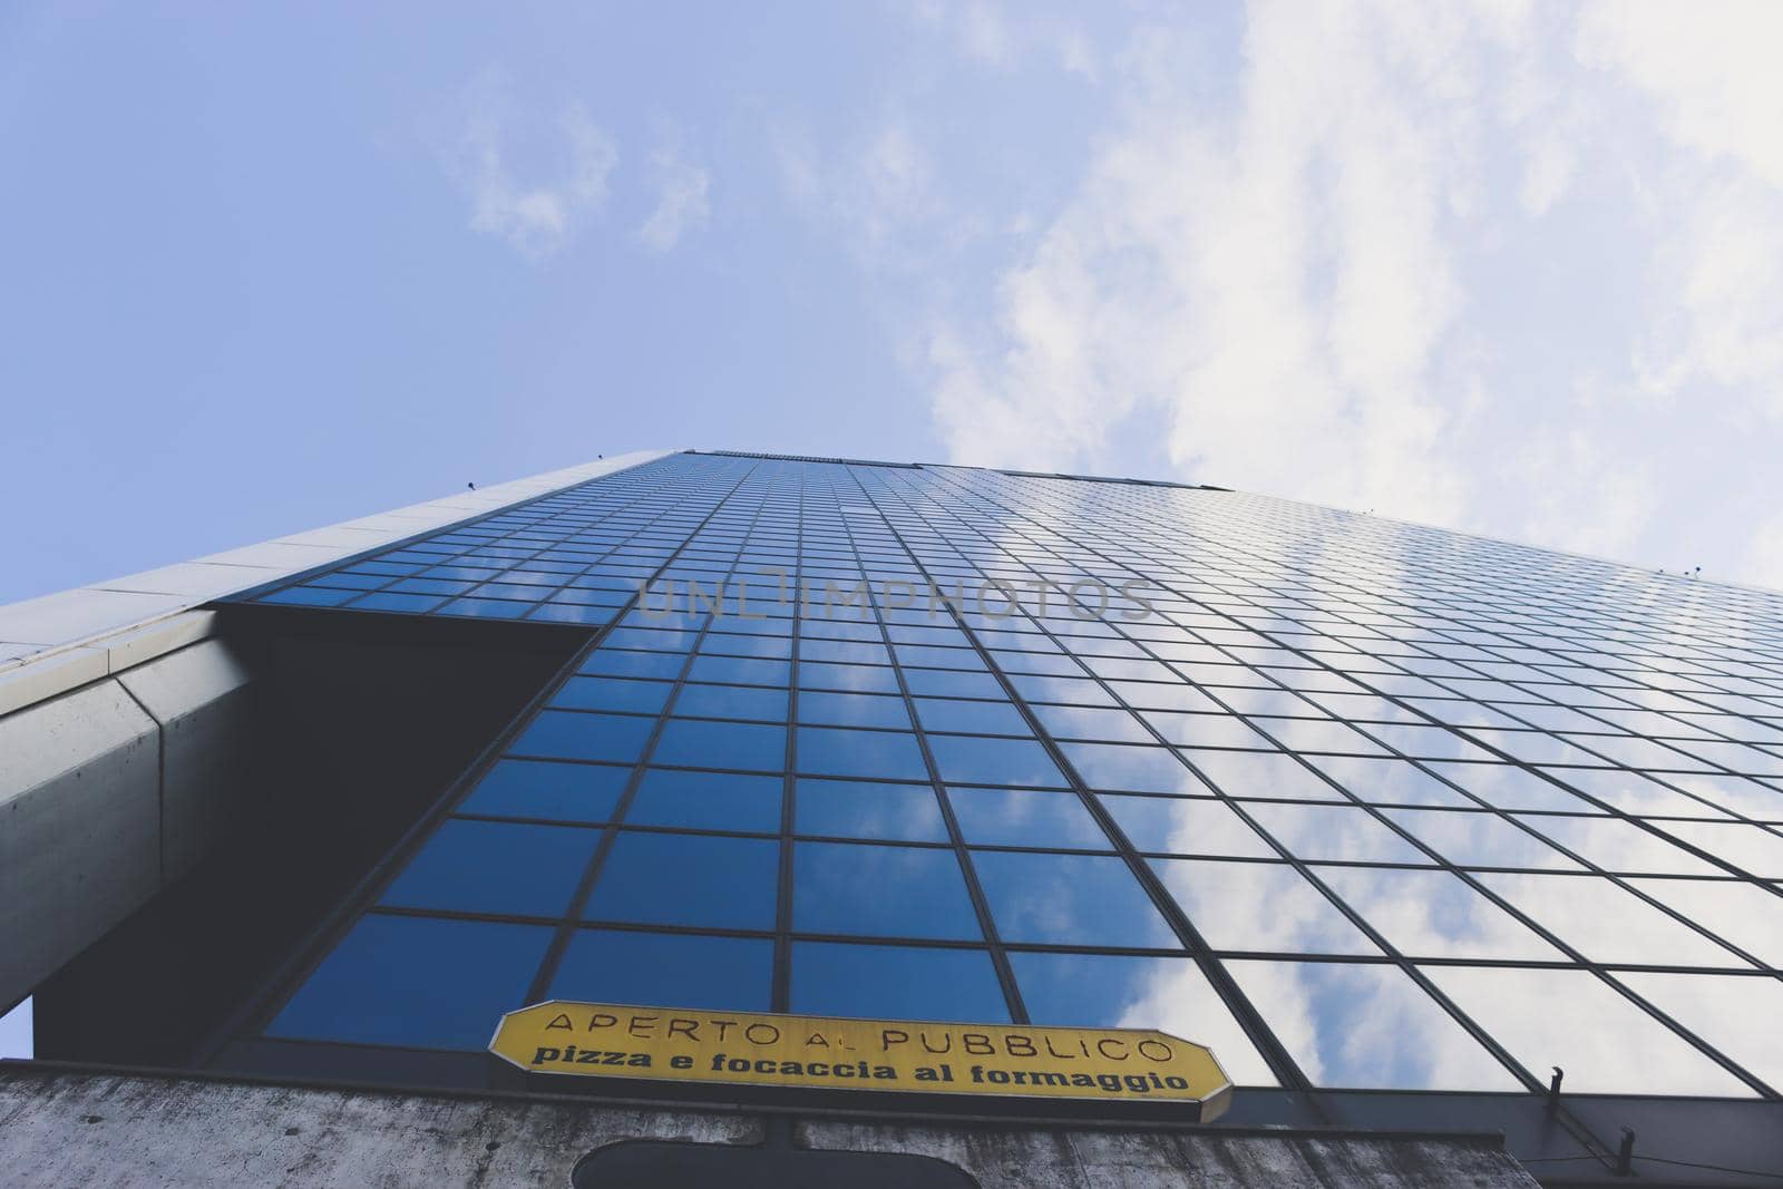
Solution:
[{"label": "whole high-rise building with mirrored glass front and concrete side", "polygon": [[[724,1144],[879,1155],[710,1184],[1783,1175],[1783,595],[1218,487],[674,453],[0,608],[12,636],[0,1005],[82,1062],[0,1073],[25,1159],[168,1134],[196,1177],[308,1087],[266,1150],[342,1184],[451,1184],[471,1148],[419,1119],[465,1103],[519,1137],[478,1175],[608,1153],[585,1185]],[[578,1025],[583,1064],[767,1013],[982,1025],[1002,1064],[1157,1029],[1236,1091],[1187,1123],[1125,1082],[489,1052],[558,1000],[661,1009]],[[540,1137],[576,1102],[606,1130]]]}]

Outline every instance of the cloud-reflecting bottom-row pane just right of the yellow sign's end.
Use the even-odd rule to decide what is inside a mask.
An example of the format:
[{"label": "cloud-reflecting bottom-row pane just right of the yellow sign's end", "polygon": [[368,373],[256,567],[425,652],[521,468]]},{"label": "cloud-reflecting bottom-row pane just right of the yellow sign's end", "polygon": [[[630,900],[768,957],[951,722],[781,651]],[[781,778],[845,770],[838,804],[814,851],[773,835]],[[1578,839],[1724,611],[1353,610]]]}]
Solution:
[{"label": "cloud-reflecting bottom-row pane just right of the yellow sign's end", "polygon": [[1227,970],[1314,1086],[1523,1086],[1398,966],[1227,961]]}]

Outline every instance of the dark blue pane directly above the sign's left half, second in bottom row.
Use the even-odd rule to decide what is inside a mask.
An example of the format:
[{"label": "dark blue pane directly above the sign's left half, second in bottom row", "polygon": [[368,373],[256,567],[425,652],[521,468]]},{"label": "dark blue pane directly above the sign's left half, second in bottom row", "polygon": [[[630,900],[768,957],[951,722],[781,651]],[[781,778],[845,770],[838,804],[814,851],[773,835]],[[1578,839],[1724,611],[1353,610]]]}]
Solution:
[{"label": "dark blue pane directly above the sign's left half, second in bottom row", "polygon": [[768,1011],[774,943],[756,938],[578,929],[547,998]]}]

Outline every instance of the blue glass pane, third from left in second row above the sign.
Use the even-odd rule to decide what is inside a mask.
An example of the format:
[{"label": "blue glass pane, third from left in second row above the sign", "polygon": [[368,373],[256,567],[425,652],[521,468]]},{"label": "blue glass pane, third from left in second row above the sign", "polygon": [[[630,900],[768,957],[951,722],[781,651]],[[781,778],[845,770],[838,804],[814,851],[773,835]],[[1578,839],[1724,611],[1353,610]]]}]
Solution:
[{"label": "blue glass pane, third from left in second row above the sign", "polygon": [[793,843],[793,929],[977,941],[977,913],[952,850]]}]

